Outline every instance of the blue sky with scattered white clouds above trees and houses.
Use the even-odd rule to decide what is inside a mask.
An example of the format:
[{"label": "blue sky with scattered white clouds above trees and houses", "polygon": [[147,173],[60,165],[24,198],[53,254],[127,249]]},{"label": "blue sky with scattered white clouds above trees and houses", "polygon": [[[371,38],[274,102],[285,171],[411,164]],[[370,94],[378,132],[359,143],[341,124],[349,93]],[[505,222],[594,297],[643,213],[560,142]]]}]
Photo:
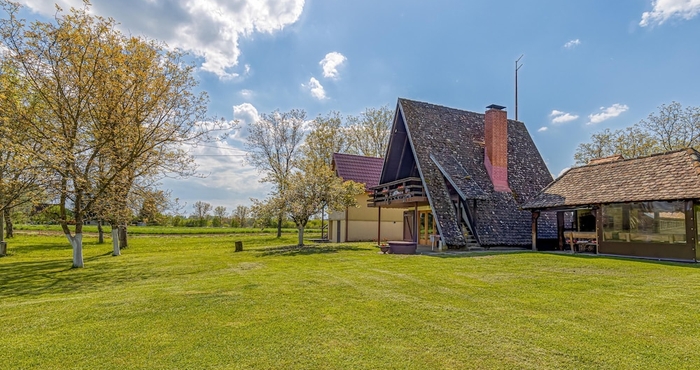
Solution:
[{"label": "blue sky with scattered white clouds above trees and houses", "polygon": [[[48,20],[54,0],[20,0]],[[59,0],[64,9],[82,0]],[[700,105],[700,0],[92,0],[132,35],[190,52],[209,114],[231,136],[189,148],[201,177],[165,179],[187,204],[233,210],[270,186],[245,163],[259,113],[357,115],[399,97],[518,118],[550,172],[594,132],[661,104]],[[49,18],[46,18],[49,17]]]}]

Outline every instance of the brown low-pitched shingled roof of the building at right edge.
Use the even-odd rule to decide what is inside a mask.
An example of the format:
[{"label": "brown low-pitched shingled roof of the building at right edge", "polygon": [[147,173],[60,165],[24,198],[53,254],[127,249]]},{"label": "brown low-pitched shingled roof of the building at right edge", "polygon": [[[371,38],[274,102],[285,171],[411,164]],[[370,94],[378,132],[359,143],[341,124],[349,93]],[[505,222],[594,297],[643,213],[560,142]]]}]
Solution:
[{"label": "brown low-pitched shingled roof of the building at right edge", "polygon": [[574,167],[523,208],[700,199],[699,159],[697,151],[683,149]]}]

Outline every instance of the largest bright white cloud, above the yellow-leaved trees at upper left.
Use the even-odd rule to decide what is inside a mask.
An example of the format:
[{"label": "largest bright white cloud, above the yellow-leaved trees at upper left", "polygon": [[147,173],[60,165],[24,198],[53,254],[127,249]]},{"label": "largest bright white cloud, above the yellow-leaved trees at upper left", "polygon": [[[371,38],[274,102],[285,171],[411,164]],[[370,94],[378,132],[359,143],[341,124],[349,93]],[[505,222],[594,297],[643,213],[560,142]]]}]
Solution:
[{"label": "largest bright white cloud, above the yellow-leaved trees at upper left", "polygon": [[[82,0],[21,0],[51,17],[54,3],[64,9],[82,7]],[[255,32],[274,33],[295,23],[304,0],[93,0],[92,12],[111,16],[123,31],[144,35],[181,48],[204,60],[202,69],[222,79],[246,74],[234,71],[241,55],[239,40]]]}]

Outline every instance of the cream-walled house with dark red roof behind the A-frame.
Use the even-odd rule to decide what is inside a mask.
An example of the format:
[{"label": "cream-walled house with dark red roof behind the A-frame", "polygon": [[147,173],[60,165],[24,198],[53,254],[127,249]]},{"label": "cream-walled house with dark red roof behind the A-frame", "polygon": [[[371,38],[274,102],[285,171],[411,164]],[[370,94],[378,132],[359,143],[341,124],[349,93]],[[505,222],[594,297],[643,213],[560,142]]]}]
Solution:
[{"label": "cream-walled house with dark red roof behind the A-frame", "polygon": [[[331,166],[343,180],[365,184],[365,193],[357,196],[358,207],[333,212],[328,220],[331,242],[352,242],[402,238],[403,212],[396,209],[370,208],[370,188],[377,186],[384,159],[351,154],[333,154]],[[381,222],[379,220],[381,219]]]}]

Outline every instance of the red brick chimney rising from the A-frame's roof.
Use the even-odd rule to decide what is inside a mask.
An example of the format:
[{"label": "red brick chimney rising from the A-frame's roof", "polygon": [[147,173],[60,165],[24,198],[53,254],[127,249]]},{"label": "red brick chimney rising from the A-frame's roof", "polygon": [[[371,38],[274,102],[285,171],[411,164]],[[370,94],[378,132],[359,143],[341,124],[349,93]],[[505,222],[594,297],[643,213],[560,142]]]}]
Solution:
[{"label": "red brick chimney rising from the A-frame's roof", "polygon": [[484,166],[495,191],[508,187],[508,117],[506,107],[491,104],[484,115]]}]

